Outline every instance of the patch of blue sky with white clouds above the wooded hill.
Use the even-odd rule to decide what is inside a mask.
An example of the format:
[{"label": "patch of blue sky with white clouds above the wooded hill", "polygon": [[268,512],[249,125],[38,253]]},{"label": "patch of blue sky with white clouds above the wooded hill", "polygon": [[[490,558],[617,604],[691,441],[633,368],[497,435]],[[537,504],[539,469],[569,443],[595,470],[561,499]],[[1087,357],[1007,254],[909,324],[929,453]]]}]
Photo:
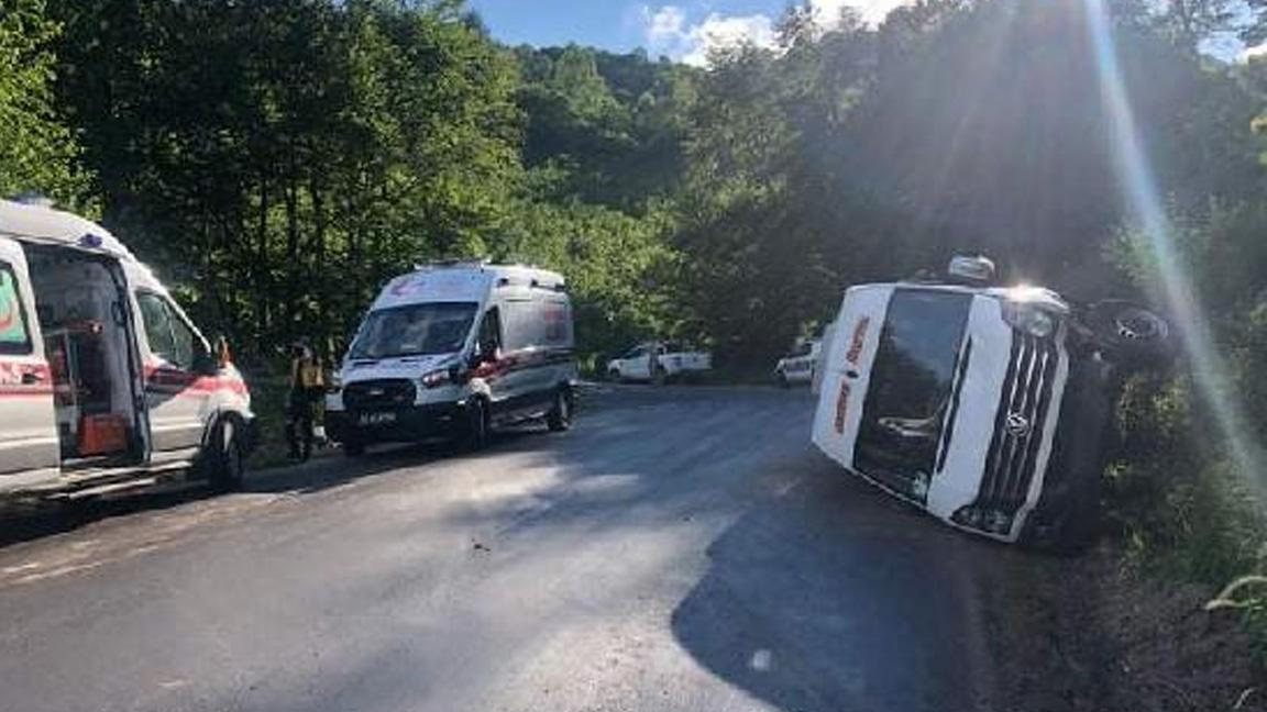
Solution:
[{"label": "patch of blue sky with white clouds above the wooded hill", "polygon": [[[699,63],[711,44],[773,41],[787,0],[469,0],[493,35],[512,44],[594,44]],[[845,5],[872,22],[901,0],[811,0],[827,20]]]}]

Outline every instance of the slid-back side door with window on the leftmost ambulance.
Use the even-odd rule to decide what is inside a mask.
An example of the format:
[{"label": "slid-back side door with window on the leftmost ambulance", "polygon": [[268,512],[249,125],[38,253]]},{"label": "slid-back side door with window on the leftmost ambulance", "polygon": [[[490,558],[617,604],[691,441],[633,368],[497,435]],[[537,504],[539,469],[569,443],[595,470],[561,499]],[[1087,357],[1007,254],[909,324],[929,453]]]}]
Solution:
[{"label": "slid-back side door with window on the leftmost ambulance", "polygon": [[[0,490],[54,479],[53,384],[22,246],[0,237]],[[23,476],[27,475],[27,476]]]}]

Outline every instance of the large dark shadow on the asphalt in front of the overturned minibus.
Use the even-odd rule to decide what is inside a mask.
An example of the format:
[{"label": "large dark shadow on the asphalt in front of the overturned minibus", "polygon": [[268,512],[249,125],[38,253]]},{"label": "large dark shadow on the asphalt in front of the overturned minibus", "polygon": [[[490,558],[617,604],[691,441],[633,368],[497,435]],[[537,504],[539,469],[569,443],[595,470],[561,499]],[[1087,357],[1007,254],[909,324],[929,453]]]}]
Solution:
[{"label": "large dark shadow on the asphalt in front of the overturned minibus", "polygon": [[780,709],[988,708],[973,568],[1002,549],[943,530],[806,454],[782,497],[708,549],[673,613],[701,664]]}]

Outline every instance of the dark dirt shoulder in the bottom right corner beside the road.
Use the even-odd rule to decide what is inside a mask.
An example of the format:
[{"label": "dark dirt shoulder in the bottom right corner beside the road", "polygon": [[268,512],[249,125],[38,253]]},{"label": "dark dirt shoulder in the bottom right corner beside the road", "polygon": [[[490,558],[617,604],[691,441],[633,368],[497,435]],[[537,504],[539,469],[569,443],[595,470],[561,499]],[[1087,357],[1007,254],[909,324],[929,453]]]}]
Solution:
[{"label": "dark dirt shoulder in the bottom right corner beside the road", "polygon": [[1016,557],[986,587],[1003,709],[1267,711],[1267,677],[1214,592],[1131,571],[1102,545]]}]

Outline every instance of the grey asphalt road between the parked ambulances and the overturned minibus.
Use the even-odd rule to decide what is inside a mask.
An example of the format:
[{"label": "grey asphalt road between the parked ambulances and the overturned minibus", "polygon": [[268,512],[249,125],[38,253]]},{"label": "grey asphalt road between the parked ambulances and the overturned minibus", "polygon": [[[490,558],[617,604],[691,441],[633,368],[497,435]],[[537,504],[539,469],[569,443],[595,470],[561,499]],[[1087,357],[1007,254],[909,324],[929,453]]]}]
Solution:
[{"label": "grey asphalt road between the parked ambulances and the overturned minibus", "polygon": [[812,402],[621,388],[563,435],[0,522],[0,709],[990,709],[1000,547],[840,473]]}]

